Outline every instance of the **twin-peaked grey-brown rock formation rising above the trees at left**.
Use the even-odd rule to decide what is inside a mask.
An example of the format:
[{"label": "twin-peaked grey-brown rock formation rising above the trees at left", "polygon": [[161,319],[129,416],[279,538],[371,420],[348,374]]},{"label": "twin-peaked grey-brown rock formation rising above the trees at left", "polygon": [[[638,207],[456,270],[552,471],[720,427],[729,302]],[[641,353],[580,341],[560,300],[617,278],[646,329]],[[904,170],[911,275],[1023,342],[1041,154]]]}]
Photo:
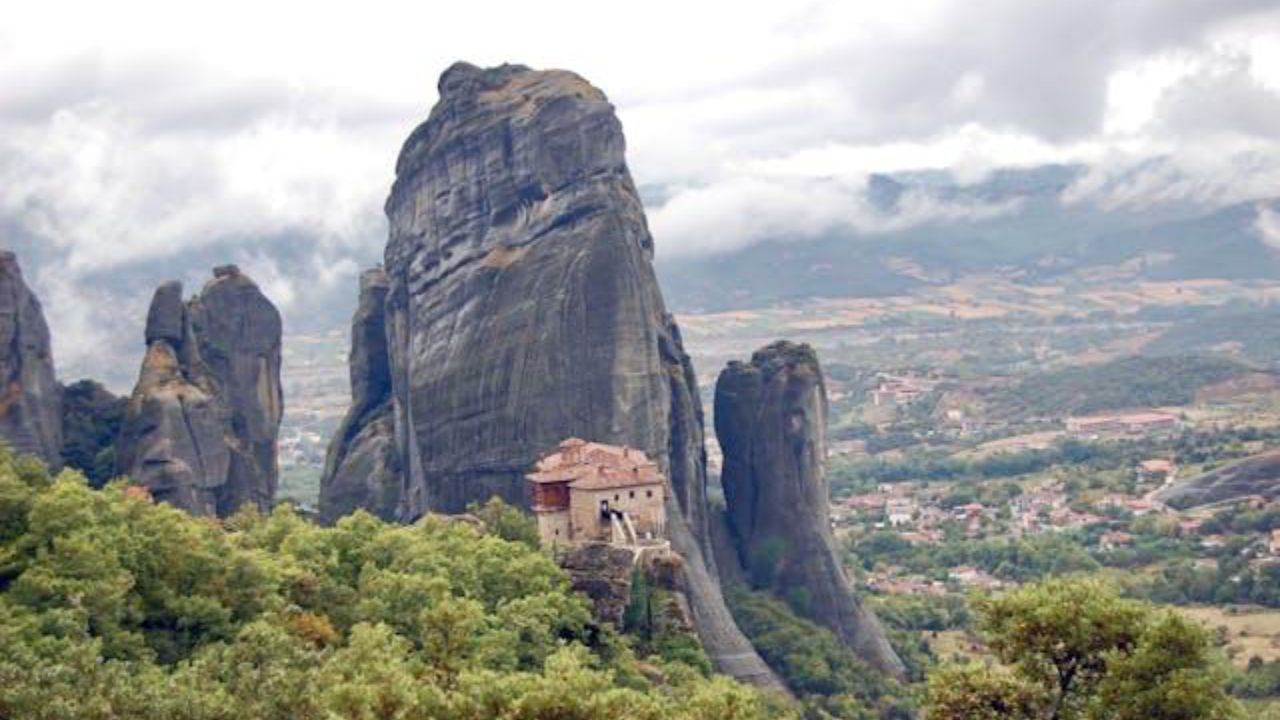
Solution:
[{"label": "twin-peaked grey-brown rock formation rising above the trees at left", "polygon": [[269,509],[278,475],[280,315],[234,266],[183,302],[160,286],[129,398],[116,468],[197,515]]}]

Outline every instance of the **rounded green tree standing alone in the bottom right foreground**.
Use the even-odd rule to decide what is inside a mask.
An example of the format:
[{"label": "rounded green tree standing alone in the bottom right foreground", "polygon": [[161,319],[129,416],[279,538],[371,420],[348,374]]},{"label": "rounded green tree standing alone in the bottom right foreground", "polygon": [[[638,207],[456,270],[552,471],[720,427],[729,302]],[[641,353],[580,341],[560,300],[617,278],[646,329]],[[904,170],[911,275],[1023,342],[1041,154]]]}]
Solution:
[{"label": "rounded green tree standing alone in the bottom right foreground", "polygon": [[1088,579],[1050,580],[977,602],[1001,666],[950,666],[929,717],[1239,717],[1210,633]]}]

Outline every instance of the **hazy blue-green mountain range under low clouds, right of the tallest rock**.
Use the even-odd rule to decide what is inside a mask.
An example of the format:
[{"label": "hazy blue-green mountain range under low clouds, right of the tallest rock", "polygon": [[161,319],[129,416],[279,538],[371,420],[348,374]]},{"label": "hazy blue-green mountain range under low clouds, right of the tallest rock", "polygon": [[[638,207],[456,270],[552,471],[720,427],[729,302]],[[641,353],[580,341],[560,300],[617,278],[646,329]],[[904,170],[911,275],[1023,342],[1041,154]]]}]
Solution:
[{"label": "hazy blue-green mountain range under low clouds, right of the tallest rock", "polygon": [[[970,184],[942,172],[872,176],[867,202],[893,229],[777,237],[714,256],[659,258],[659,277],[682,311],[895,295],[992,272],[1025,282],[1114,266],[1135,279],[1280,278],[1276,249],[1254,227],[1258,208],[1277,208],[1280,200],[1106,208],[1071,200],[1084,172],[1009,169]],[[905,199],[1000,211],[896,227]]]}]

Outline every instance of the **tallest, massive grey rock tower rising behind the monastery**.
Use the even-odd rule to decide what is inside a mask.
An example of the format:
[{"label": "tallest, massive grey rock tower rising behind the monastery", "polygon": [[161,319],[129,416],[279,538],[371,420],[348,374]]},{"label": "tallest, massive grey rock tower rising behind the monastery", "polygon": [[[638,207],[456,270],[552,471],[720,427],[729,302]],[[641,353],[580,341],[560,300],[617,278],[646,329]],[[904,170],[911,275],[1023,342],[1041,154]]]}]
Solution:
[{"label": "tallest, massive grey rock tower rising behind the monastery", "polygon": [[[572,73],[520,65],[458,63],[439,92],[387,201],[402,518],[493,495],[524,502],[524,474],[567,437],[640,448],[672,483],[668,532],[708,653],[726,673],[780,687],[704,552],[698,388],[613,106]],[[357,421],[344,437],[367,429]]]}]

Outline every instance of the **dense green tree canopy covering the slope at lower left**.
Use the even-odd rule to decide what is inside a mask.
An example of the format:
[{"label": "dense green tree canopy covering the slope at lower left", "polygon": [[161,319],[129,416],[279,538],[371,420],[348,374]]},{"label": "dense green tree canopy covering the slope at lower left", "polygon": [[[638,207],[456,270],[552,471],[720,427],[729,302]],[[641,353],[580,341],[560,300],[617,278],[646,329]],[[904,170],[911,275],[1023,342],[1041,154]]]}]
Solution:
[{"label": "dense green tree canopy covering the slope at lower left", "polygon": [[195,519],[0,452],[0,717],[786,716],[701,667],[641,673],[550,557],[499,528],[288,507]]}]

